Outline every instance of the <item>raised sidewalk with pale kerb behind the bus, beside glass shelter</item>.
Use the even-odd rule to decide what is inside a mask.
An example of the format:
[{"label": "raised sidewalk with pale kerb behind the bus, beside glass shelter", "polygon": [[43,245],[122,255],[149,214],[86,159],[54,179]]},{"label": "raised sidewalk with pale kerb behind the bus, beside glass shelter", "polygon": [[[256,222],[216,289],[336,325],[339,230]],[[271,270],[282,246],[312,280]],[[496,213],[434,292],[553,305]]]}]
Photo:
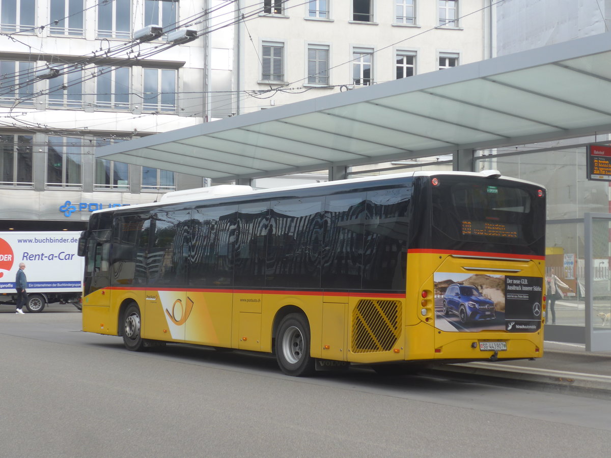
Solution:
[{"label": "raised sidewalk with pale kerb behind the bus, beside glass shelter", "polygon": [[578,344],[545,342],[543,357],[534,361],[461,363],[434,366],[434,370],[533,382],[611,398],[611,352],[590,353]]}]

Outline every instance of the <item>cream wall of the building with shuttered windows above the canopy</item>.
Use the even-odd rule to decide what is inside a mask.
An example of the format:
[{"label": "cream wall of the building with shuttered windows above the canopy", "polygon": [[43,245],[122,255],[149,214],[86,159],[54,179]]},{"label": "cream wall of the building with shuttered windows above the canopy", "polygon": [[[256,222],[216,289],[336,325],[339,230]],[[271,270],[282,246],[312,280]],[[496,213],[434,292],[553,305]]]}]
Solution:
[{"label": "cream wall of the building with shuttered windows above the canopy", "polygon": [[[242,0],[243,11],[252,10],[262,1]],[[395,79],[395,53],[416,53],[416,74],[439,68],[439,53],[456,53],[459,64],[485,59],[489,40],[485,18],[489,0],[458,2],[458,27],[437,27],[436,1],[418,0],[416,24],[395,22],[395,1],[372,0],[373,22],[353,21],[351,0],[330,1],[328,19],[308,17],[308,2],[288,0],[284,15],[259,14],[240,23],[240,56],[234,67],[240,73],[241,89],[249,92],[241,97],[240,114],[262,108],[328,95],[353,85],[352,50],[372,48],[375,83]],[[437,27],[437,28],[436,28]],[[281,42],[285,46],[285,81],[276,84],[261,79],[262,42]],[[307,85],[307,46],[309,43],[330,48],[329,87]],[[237,68],[236,68],[237,67]],[[263,93],[260,93],[263,91]]]}]

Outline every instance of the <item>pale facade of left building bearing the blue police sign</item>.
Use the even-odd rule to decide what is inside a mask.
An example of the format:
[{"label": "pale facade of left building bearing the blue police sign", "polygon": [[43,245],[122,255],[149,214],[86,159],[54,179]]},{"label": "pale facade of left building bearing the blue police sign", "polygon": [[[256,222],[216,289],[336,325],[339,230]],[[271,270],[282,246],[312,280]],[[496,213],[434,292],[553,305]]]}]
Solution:
[{"label": "pale facade of left building bearing the blue police sign", "polygon": [[[19,2],[25,4],[26,0]],[[28,78],[28,81],[34,81],[34,103],[19,103],[21,99],[11,99],[13,89],[11,84],[7,84],[14,75],[0,75],[0,201],[4,203],[0,209],[0,230],[13,227],[17,220],[20,220],[20,225],[15,227],[23,230],[39,228],[38,220],[46,221],[47,224],[84,224],[90,211],[97,206],[105,208],[108,205],[153,202],[163,192],[171,190],[172,186],[161,186],[164,184],[161,179],[158,187],[141,187],[141,167],[134,165],[128,170],[128,186],[104,189],[96,181],[95,149],[106,140],[126,140],[143,134],[170,131],[196,125],[206,119],[210,112],[208,85],[214,79],[215,71],[209,62],[211,35],[207,33],[210,31],[207,12],[214,2],[223,3],[220,0],[176,3],[177,26],[195,29],[199,35],[196,40],[178,46],[168,45],[165,36],[144,43],[136,43],[132,39],[133,32],[142,29],[145,24],[145,2],[141,0],[130,1],[130,33],[123,38],[98,37],[98,7],[107,5],[98,0],[82,2],[82,36],[51,33],[53,21],[63,19],[52,17],[51,0],[35,1],[34,29],[15,32],[13,26],[11,30],[10,14],[5,15],[5,11],[2,11],[0,60],[32,62],[38,69],[78,64],[82,68],[82,104],[51,106],[48,93],[49,82],[53,82],[53,79],[39,78]],[[70,2],[70,5],[74,4]],[[122,4],[125,5],[125,2]],[[7,11],[10,11],[10,2],[7,5]],[[218,35],[223,43],[220,47],[230,49],[233,45],[233,28],[229,27],[229,32],[219,31]],[[122,51],[115,53],[117,48],[122,48]],[[128,109],[113,109],[97,103],[97,65],[130,68],[131,96]],[[144,110],[142,102],[147,97],[143,84],[145,68],[177,71],[175,111],[155,113]],[[18,159],[23,160],[24,166],[32,170],[32,183],[21,183],[16,178],[18,173],[15,173],[13,161],[18,156],[16,152],[19,147],[15,142],[19,136],[32,138],[32,144],[28,147],[32,149],[29,164],[26,159]],[[79,183],[65,187],[63,184],[57,186],[56,183],[48,183],[48,170],[51,167],[48,162],[48,139],[52,136],[68,139],[67,147],[82,145],[78,153],[82,177]],[[21,162],[16,164],[19,167]],[[203,181],[202,177],[178,174],[173,183],[177,189],[187,189],[202,186]],[[65,211],[65,208],[72,207],[76,209]],[[76,229],[74,225],[70,228]]]}]

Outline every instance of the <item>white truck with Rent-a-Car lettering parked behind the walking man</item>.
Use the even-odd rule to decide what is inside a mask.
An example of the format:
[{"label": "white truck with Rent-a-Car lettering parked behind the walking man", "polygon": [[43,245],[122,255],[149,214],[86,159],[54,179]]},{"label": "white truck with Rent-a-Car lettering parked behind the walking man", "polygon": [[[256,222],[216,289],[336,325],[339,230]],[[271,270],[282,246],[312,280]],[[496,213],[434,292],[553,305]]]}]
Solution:
[{"label": "white truck with Rent-a-Car lettering parked behind the walking man", "polygon": [[76,254],[80,234],[0,232],[0,304],[15,304],[15,276],[19,264],[25,263],[27,311],[40,312],[54,302],[81,310],[84,258]]}]

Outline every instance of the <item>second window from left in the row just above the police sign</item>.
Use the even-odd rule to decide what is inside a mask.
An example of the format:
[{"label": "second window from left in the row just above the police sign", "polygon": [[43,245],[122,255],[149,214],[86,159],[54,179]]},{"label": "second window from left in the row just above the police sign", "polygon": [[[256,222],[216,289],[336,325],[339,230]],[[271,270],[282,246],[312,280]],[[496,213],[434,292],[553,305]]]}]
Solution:
[{"label": "second window from left in the row just above the police sign", "polygon": [[49,137],[46,152],[48,187],[82,186],[82,139]]}]

